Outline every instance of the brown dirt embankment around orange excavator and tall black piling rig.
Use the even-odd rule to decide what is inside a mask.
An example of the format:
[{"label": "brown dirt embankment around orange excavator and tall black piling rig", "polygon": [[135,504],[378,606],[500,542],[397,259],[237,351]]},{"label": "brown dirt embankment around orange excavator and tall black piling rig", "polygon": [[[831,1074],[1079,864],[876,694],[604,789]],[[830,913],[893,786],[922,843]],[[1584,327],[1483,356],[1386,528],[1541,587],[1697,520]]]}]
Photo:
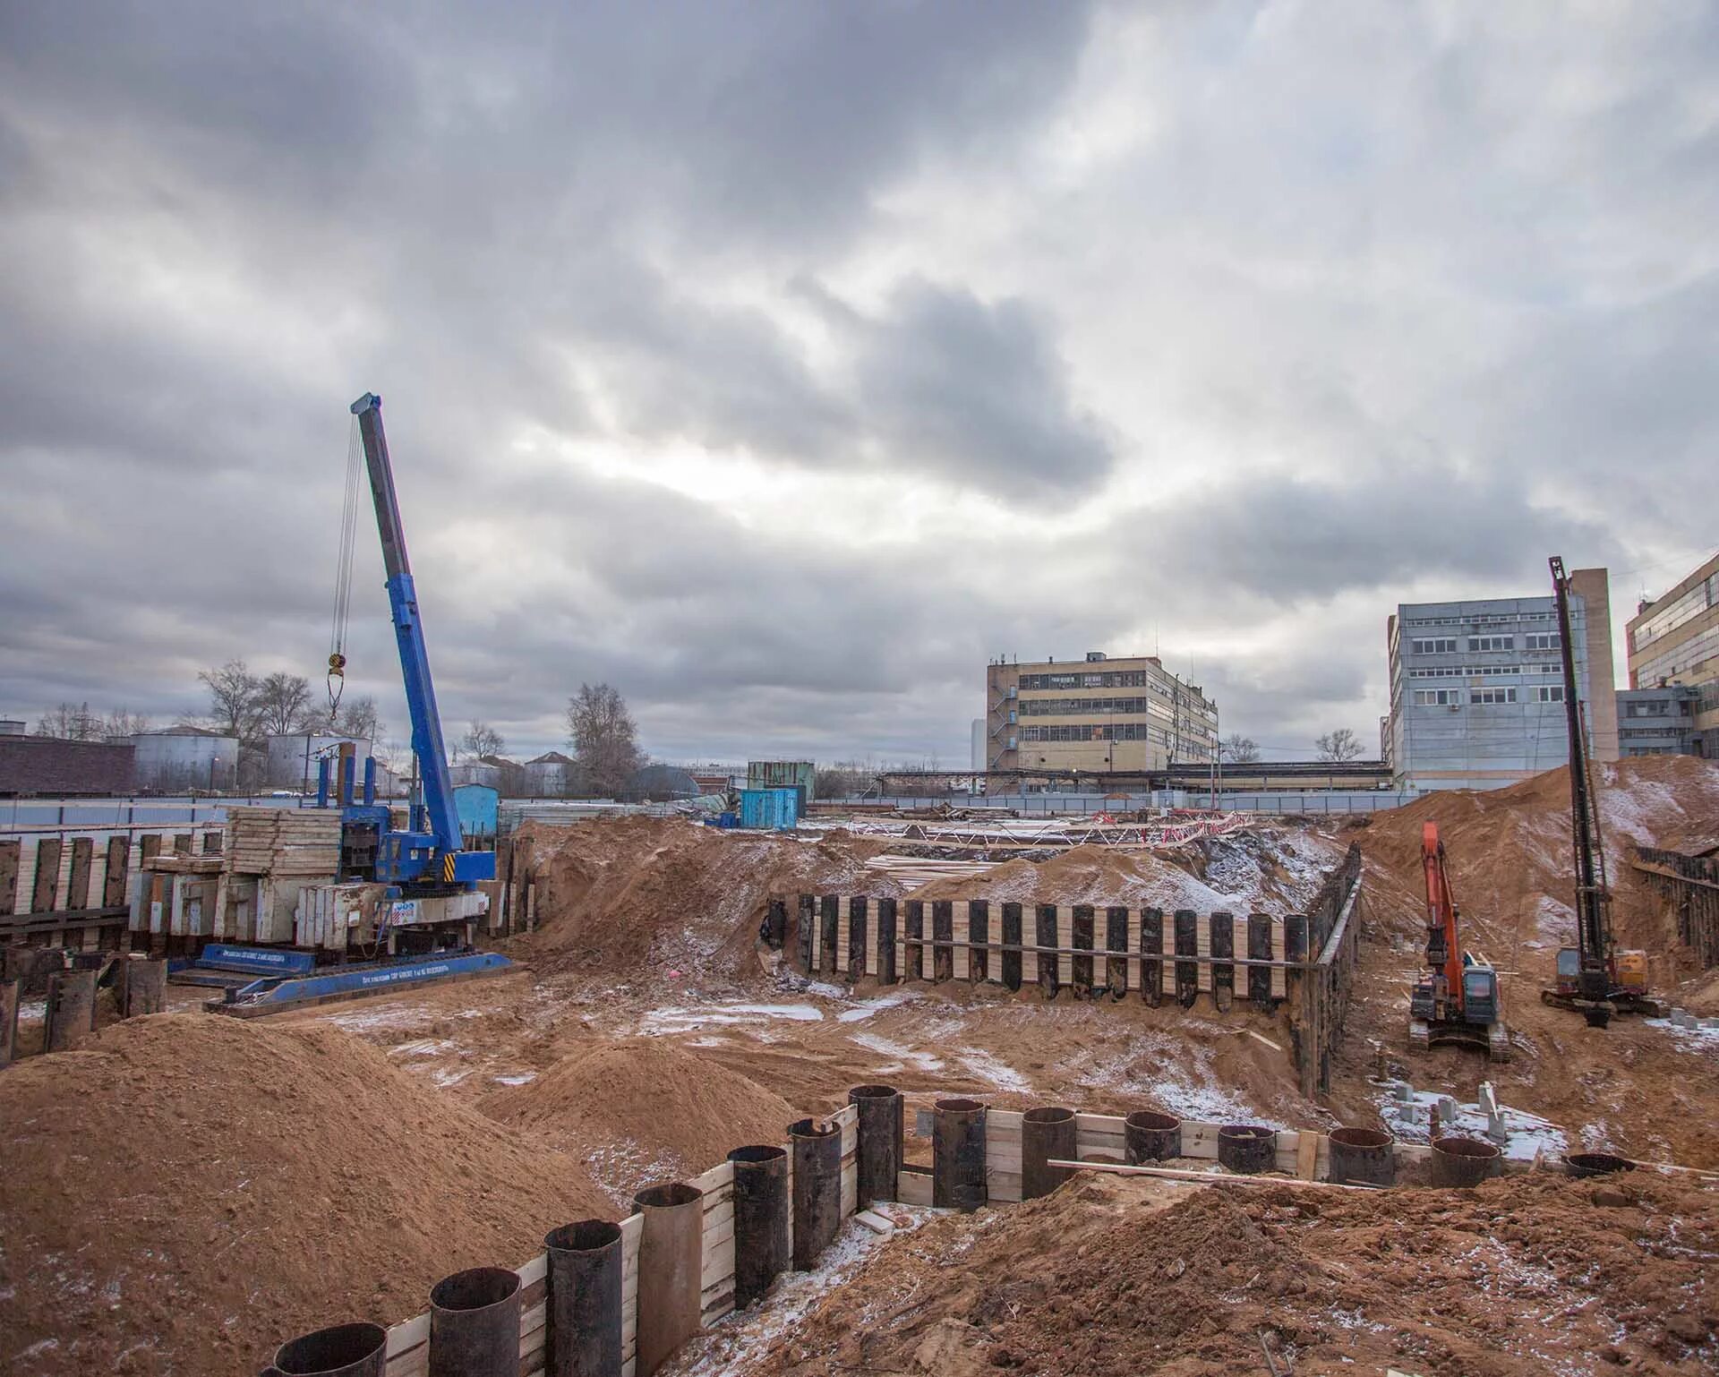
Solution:
[{"label": "brown dirt embankment around orange excavator and tall black piling rig", "polygon": [[[1649,952],[1655,992],[1698,1006],[1710,987],[1676,940],[1676,920],[1630,866],[1633,844],[1695,849],[1719,832],[1719,765],[1647,756],[1599,767],[1600,825],[1623,946]],[[1439,823],[1463,913],[1463,944],[1501,970],[1513,1033],[1509,1066],[1459,1050],[1406,1052],[1408,987],[1425,944],[1422,823]],[[1719,1062],[1712,1042],[1640,1018],[1594,1030],[1540,1002],[1557,949],[1575,944],[1569,774],[1551,770],[1508,789],[1441,793],[1373,815],[1353,835],[1368,861],[1360,997],[1334,1074],[1344,1117],[1365,1119],[1375,1047],[1427,1090],[1473,1099],[1490,1080],[1499,1099],[1564,1126],[1573,1148],[1719,1166]]]}]

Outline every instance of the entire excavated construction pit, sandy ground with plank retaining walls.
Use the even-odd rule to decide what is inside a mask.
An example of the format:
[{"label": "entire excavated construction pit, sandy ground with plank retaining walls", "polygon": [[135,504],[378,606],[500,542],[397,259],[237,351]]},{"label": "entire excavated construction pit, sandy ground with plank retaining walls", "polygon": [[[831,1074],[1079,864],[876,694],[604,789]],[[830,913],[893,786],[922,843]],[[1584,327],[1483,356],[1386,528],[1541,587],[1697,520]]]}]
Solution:
[{"label": "entire excavated construction pit, sandy ground with plank retaining walls", "polygon": [[[388,1329],[385,1372],[406,1377],[435,1370],[431,1288],[500,1267],[517,1272],[514,1370],[555,1370],[545,1236],[593,1219],[631,1250],[615,1358],[636,1377],[1719,1370],[1719,1028],[1705,1026],[1719,971],[1679,942],[1673,901],[1631,860],[1635,846],[1719,844],[1719,770],[1597,768],[1612,920],[1678,1018],[1597,1030],[1539,999],[1569,940],[1561,770],[1365,818],[992,851],[935,875],[890,860],[923,861],[923,844],[858,827],[533,823],[536,927],[499,944],[507,975],[249,1021],[175,988],[168,1013],[101,1007],[81,1049],[0,1071],[0,1368],[260,1372],[294,1336],[368,1320]],[[1466,937],[1501,973],[1502,1064],[1408,1045],[1425,820],[1442,829]],[[1346,866],[1353,884],[1334,889]],[[846,964],[801,946],[799,896],[820,942],[823,899],[841,899]],[[882,901],[897,918],[894,980],[873,973]],[[909,904],[923,925],[911,952]],[[1296,952],[1293,920],[1322,904],[1336,921]],[[1000,940],[1006,906],[1033,935],[1049,908],[1050,940]],[[1123,909],[1112,983],[1104,930]],[[1205,925],[1207,951],[1183,952],[1172,932],[1153,963],[1140,954],[1153,911],[1169,928],[1179,911],[1236,921]],[[1289,920],[1263,949],[1282,956],[1257,968],[1253,915]],[[1066,942],[1088,918],[1097,956],[1083,963]],[[959,970],[940,921],[966,923]],[[1233,946],[1214,954],[1214,933]],[[1043,947],[1055,997],[1038,971],[1009,987],[1009,946]],[[1315,1007],[1303,990],[1327,947],[1346,983],[1337,1007]],[[1178,964],[1195,968],[1191,1001]],[[40,1037],[26,1009],[21,1049]],[[858,1195],[870,1148],[856,1145],[856,1086],[901,1093],[894,1198]],[[1026,1147],[1026,1112],[1054,1107],[1076,1111],[1085,1166],[1023,1202],[1035,1162],[1076,1160]],[[1427,1184],[1434,1109],[1497,1148],[1487,1179]],[[990,1121],[978,1179],[992,1190],[940,1209],[937,1172],[959,1154],[945,1164],[935,1135],[975,1111]],[[1121,1124],[1141,1111],[1181,1121],[1181,1155],[1159,1162],[1176,1174],[1097,1160],[1131,1155]],[[837,1209],[798,1257],[813,1234],[796,1196],[803,1265],[734,1308],[748,1258],[727,1157],[792,1141],[798,1162],[808,1135],[789,1126],[806,1119],[837,1129]],[[1222,1166],[1226,1126],[1265,1135],[1265,1174]],[[1394,1188],[1325,1179],[1339,1128],[1389,1133]],[[1635,1166],[1573,1176],[1578,1154]],[[639,1243],[655,1207],[634,1214],[639,1191],[667,1183],[703,1198],[698,1289],[676,1315]]]}]

